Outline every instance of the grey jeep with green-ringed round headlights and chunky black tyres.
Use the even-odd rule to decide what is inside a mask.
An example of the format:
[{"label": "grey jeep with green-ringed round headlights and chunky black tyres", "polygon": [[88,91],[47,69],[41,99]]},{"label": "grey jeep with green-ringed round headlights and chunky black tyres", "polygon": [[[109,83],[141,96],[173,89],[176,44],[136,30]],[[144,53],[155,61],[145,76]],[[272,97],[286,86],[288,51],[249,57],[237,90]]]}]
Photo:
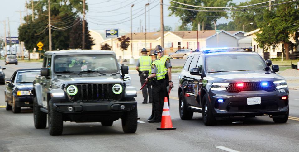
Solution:
[{"label": "grey jeep with green-ringed round headlights and chunky black tyres", "polygon": [[45,128],[48,114],[50,135],[62,134],[63,121],[111,126],[119,118],[125,133],[136,132],[137,91],[124,82],[128,70],[112,51],[45,52],[33,81],[35,127]]}]

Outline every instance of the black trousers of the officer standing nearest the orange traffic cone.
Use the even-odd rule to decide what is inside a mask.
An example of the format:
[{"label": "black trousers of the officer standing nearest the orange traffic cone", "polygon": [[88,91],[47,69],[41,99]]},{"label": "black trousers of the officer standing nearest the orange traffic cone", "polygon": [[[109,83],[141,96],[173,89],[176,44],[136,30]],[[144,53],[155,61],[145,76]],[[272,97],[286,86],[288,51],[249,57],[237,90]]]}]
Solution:
[{"label": "black trousers of the officer standing nearest the orange traffic cone", "polygon": [[154,119],[157,121],[161,121],[162,112],[163,112],[163,104],[164,104],[164,97],[165,91],[164,89],[164,80],[155,80],[153,83],[153,109],[152,115]]}]

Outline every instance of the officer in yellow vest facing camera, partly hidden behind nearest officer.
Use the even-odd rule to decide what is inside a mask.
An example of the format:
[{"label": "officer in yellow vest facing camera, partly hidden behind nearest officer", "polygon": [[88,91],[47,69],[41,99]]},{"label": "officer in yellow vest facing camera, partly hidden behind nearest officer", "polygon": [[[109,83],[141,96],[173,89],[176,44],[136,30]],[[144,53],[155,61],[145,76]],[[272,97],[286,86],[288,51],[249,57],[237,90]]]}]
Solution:
[{"label": "officer in yellow vest facing camera, partly hidden behind nearest officer", "polygon": [[[164,48],[162,48],[162,46],[157,45],[155,50],[158,52],[159,60],[161,61],[161,63],[163,64],[163,67],[164,67],[164,75],[165,75],[164,89],[167,90],[168,86],[170,88],[173,88],[173,82],[171,81],[171,67],[172,66],[171,66],[170,59],[167,55],[164,55]],[[167,91],[166,91],[165,97],[168,98],[168,105],[169,105],[169,96],[168,96]]]}]

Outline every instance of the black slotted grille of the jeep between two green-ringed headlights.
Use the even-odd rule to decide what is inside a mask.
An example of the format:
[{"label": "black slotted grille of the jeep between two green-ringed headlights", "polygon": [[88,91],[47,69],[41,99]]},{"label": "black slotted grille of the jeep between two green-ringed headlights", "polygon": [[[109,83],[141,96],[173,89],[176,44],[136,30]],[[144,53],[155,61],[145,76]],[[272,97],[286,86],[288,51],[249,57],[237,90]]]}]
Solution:
[{"label": "black slotted grille of the jeep between two green-ringed headlights", "polygon": [[78,93],[71,99],[72,101],[92,102],[92,101],[114,101],[120,100],[121,94],[114,94],[112,86],[115,83],[100,84],[75,84]]}]

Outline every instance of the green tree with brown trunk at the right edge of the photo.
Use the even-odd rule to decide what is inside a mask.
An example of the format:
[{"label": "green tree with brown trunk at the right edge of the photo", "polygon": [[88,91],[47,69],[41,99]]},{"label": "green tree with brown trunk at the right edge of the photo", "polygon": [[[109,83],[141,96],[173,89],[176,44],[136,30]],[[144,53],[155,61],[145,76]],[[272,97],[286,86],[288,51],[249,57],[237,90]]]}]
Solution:
[{"label": "green tree with brown trunk at the right edge of the photo", "polygon": [[265,10],[260,31],[255,39],[266,50],[278,44],[283,44],[286,59],[289,58],[289,47],[295,46],[290,39],[298,38],[299,29],[299,2],[278,5],[272,11]]}]

